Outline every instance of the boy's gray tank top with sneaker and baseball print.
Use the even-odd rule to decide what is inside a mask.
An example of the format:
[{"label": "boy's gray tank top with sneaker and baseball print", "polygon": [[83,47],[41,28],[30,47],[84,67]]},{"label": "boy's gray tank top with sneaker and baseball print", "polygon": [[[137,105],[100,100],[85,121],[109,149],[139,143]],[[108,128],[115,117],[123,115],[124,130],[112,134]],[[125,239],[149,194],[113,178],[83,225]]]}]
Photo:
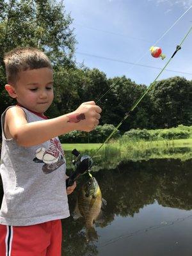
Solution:
[{"label": "boy's gray tank top with sneaker and baseball print", "polygon": [[[42,116],[22,109],[28,123],[44,122]],[[0,173],[4,196],[0,224],[27,226],[67,218],[70,214],[65,186],[66,164],[58,137],[33,147],[21,147],[4,136],[5,114],[6,111],[1,116]]]}]

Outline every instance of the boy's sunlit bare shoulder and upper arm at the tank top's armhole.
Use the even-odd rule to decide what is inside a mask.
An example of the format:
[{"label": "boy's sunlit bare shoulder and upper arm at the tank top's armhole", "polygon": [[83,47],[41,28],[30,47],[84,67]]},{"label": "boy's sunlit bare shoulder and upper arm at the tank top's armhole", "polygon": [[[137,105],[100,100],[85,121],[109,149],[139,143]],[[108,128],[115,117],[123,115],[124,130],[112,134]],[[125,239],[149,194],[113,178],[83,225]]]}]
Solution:
[{"label": "boy's sunlit bare shoulder and upper arm at the tank top's armhole", "polygon": [[26,113],[24,113],[24,110],[22,108],[19,108],[18,106],[13,106],[6,111],[4,118],[4,136],[6,137],[6,139],[13,138],[10,130],[12,130],[13,127],[16,127],[17,123],[27,123]]}]

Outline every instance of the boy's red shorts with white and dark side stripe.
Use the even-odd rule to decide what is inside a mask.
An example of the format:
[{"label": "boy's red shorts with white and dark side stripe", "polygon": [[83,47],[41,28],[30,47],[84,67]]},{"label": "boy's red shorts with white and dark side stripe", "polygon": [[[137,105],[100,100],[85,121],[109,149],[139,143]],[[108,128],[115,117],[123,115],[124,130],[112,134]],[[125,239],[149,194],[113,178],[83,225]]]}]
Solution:
[{"label": "boy's red shorts with white and dark side stripe", "polygon": [[1,256],[61,256],[61,220],[31,226],[0,225]]}]

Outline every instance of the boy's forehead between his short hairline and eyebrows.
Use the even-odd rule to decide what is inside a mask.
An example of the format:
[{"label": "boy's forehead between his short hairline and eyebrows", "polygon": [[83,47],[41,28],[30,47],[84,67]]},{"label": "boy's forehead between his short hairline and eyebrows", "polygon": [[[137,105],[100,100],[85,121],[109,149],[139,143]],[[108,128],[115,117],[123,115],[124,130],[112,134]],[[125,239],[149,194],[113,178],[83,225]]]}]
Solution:
[{"label": "boy's forehead between his short hairline and eyebrows", "polygon": [[53,74],[51,68],[36,68],[25,71],[20,71],[18,80],[25,83],[40,83],[40,81],[52,81]]}]

